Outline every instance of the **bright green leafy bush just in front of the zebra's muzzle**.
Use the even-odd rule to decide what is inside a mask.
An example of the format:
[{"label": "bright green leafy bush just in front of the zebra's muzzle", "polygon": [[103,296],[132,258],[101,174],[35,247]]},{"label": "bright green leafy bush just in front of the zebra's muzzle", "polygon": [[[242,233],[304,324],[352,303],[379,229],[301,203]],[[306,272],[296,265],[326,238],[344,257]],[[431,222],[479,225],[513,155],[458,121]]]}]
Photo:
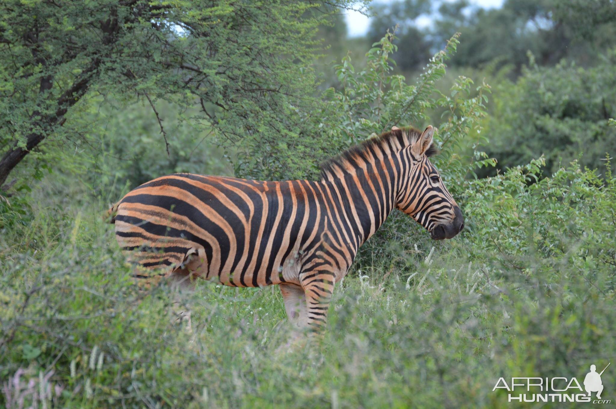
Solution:
[{"label": "bright green leafy bush just in front of the zebra's muzzle", "polygon": [[563,264],[593,277],[604,272],[606,289],[616,286],[616,178],[609,160],[606,180],[577,161],[541,177],[543,158],[505,175],[469,183],[464,197],[472,251],[526,276],[562,276]]}]

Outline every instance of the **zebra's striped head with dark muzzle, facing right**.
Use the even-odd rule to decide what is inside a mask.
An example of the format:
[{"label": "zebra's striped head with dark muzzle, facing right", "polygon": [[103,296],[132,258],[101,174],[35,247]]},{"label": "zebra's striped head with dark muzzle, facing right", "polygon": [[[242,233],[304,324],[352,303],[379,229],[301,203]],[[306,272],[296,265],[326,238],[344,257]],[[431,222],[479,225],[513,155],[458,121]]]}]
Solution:
[{"label": "zebra's striped head with dark muzzle, facing right", "polygon": [[[393,127],[392,132],[403,131]],[[464,228],[464,217],[430,162],[429,157],[436,153],[432,147],[434,128],[429,126],[421,135],[415,130],[409,132],[411,135],[404,136],[410,144],[402,151],[408,169],[403,172],[397,208],[424,226],[432,239],[451,239]]]}]

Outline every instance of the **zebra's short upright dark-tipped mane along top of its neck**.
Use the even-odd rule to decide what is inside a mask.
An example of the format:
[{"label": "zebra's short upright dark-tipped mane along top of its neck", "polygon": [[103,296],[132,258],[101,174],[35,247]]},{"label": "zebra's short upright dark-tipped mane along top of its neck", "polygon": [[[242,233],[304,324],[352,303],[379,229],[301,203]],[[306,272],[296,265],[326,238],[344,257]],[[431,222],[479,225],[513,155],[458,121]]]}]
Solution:
[{"label": "zebra's short upright dark-tipped mane along top of its neck", "polygon": [[[395,148],[395,146],[398,145],[405,147],[412,145],[419,139],[419,137],[421,137],[421,131],[413,127],[403,127],[400,128],[400,130],[402,130],[402,132],[383,132],[378,137],[367,139],[359,145],[355,145],[352,148],[347,149],[338,156],[331,157],[320,166],[321,177],[324,179],[327,178],[328,175],[332,175],[336,169],[344,171],[344,169],[347,168],[347,165],[355,167],[355,158],[362,156],[367,157],[364,153],[370,154],[370,149],[375,146],[379,148],[386,145],[389,145],[391,148]],[[426,156],[434,156],[437,153],[438,149],[433,143],[425,154]]]}]

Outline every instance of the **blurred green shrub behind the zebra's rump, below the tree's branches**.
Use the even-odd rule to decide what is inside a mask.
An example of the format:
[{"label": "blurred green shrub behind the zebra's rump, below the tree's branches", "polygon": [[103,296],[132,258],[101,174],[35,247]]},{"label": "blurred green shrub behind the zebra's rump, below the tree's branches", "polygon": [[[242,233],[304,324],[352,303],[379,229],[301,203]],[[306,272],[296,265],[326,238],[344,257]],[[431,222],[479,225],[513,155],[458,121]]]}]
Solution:
[{"label": "blurred green shrub behind the zebra's rump, below the tree's branches", "polygon": [[91,133],[89,143],[79,146],[78,161],[62,156],[63,150],[55,146],[48,154],[60,156],[57,166],[63,170],[60,175],[68,173],[67,183],[79,178],[91,194],[109,202],[117,201],[129,188],[169,173],[233,175],[232,149],[219,148],[208,139],[214,129],[195,122],[197,108],[182,109],[161,101],[156,109],[169,134],[169,155],[147,101],[124,106],[110,100],[92,103],[90,112],[73,119],[73,123],[88,122]]}]

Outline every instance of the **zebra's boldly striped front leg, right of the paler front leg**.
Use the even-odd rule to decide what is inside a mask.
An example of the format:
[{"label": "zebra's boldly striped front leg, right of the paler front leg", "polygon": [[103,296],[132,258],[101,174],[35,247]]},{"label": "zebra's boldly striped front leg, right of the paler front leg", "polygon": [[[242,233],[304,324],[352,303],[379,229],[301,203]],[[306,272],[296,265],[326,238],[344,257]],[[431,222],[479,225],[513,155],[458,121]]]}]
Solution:
[{"label": "zebra's boldly striped front leg, right of the paler front leg", "polygon": [[321,332],[327,324],[336,275],[333,271],[322,269],[304,272],[300,277],[306,293],[306,325],[314,332]]}]

